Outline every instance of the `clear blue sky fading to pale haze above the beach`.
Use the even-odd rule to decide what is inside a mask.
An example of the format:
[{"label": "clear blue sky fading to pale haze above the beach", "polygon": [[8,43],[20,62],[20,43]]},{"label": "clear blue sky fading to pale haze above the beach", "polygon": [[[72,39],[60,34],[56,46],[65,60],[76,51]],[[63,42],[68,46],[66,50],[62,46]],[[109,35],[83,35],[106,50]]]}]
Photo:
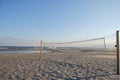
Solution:
[{"label": "clear blue sky fading to pale haze above the beach", "polygon": [[6,40],[79,41],[116,30],[120,0],[0,0],[0,45]]}]

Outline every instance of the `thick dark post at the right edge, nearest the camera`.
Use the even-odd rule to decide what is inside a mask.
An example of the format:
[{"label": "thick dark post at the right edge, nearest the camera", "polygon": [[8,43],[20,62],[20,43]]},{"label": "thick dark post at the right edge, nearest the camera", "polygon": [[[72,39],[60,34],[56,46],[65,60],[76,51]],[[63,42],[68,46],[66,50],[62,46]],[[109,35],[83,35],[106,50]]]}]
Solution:
[{"label": "thick dark post at the right edge, nearest the camera", "polygon": [[116,31],[116,55],[117,55],[117,74],[120,75],[120,58],[119,58],[119,31]]}]

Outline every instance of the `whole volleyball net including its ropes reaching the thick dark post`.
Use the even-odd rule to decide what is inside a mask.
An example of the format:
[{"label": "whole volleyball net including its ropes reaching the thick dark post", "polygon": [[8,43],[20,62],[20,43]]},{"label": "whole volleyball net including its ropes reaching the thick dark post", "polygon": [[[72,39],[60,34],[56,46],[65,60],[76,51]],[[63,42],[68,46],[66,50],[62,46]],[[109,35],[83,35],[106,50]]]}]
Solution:
[{"label": "whole volleyball net including its ropes reaching the thick dark post", "polygon": [[48,51],[115,51],[116,34],[71,42],[44,42],[43,47]]}]

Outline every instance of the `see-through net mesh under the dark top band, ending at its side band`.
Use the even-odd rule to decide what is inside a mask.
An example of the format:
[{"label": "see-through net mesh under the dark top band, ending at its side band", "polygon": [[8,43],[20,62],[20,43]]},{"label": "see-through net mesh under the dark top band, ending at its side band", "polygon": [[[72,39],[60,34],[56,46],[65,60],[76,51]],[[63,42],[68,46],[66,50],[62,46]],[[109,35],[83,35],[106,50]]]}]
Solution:
[{"label": "see-through net mesh under the dark top band, ending at its side band", "polygon": [[44,43],[44,47],[52,50],[105,50],[106,43],[105,38],[95,38],[82,41],[73,41],[73,42],[61,42],[61,43]]}]

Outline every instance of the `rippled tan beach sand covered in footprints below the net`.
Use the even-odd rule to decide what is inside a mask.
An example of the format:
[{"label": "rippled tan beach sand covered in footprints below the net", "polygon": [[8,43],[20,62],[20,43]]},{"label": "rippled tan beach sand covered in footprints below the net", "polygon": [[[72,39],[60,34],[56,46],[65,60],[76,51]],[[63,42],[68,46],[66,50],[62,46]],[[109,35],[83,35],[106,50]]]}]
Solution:
[{"label": "rippled tan beach sand covered in footprints below the net", "polygon": [[120,80],[113,52],[0,54],[0,80]]}]

